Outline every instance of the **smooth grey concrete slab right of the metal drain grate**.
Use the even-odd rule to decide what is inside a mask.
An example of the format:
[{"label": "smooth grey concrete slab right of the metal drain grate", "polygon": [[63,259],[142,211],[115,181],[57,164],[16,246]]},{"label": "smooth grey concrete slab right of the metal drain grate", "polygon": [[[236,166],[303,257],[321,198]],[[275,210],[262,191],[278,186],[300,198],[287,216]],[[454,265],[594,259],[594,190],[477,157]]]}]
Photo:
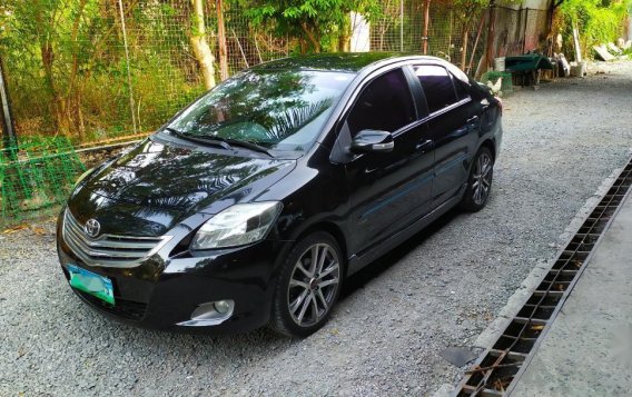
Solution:
[{"label": "smooth grey concrete slab right of the metal drain grate", "polygon": [[512,397],[632,393],[632,199],[623,204]]}]

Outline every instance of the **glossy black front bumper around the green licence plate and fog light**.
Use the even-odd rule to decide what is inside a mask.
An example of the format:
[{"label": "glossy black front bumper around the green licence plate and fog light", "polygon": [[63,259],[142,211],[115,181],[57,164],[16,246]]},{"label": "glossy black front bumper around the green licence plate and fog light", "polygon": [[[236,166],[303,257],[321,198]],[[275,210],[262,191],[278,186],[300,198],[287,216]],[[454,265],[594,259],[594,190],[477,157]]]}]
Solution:
[{"label": "glossy black front bumper around the green licence plate and fog light", "polygon": [[[61,230],[58,229],[58,236]],[[218,250],[205,257],[169,258],[157,252],[132,268],[88,266],[58,238],[59,261],[69,279],[76,265],[112,280],[115,305],[72,290],[90,307],[118,320],[142,327],[186,333],[233,334],[266,325],[271,311],[276,258],[285,244],[264,240]],[[233,299],[233,316],[211,327],[181,327],[201,304]]]}]

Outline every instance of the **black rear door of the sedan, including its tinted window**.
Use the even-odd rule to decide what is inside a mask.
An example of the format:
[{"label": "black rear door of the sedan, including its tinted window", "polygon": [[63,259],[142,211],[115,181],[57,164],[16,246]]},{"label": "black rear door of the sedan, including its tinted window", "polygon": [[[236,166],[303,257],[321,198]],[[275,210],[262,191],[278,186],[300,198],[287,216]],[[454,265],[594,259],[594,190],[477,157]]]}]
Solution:
[{"label": "black rear door of the sedan, including its tinted window", "polygon": [[462,82],[440,64],[416,64],[428,107],[429,139],[434,142],[433,208],[451,199],[467,181],[478,141],[472,98]]}]

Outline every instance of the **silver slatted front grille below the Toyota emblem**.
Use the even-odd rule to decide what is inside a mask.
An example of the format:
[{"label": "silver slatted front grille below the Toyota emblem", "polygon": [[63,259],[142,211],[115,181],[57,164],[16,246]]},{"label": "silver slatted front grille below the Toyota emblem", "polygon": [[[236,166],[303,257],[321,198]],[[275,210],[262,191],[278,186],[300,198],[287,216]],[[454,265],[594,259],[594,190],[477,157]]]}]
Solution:
[{"label": "silver slatted front grille below the Toyota emblem", "polygon": [[134,237],[102,235],[88,237],[69,210],[63,215],[63,241],[88,266],[129,268],[156,254],[171,236]]}]

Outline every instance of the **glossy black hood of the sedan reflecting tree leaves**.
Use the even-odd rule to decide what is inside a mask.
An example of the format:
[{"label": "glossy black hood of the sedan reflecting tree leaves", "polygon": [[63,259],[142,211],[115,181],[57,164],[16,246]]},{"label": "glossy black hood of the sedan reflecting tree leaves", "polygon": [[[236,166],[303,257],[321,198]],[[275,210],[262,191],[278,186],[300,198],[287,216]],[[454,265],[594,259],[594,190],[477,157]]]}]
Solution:
[{"label": "glossy black hood of the sedan reflecting tree leaves", "polygon": [[108,208],[160,209],[182,216],[217,214],[255,198],[295,163],[146,140],[90,176],[75,191],[69,206],[96,215],[105,210],[106,202]]}]

